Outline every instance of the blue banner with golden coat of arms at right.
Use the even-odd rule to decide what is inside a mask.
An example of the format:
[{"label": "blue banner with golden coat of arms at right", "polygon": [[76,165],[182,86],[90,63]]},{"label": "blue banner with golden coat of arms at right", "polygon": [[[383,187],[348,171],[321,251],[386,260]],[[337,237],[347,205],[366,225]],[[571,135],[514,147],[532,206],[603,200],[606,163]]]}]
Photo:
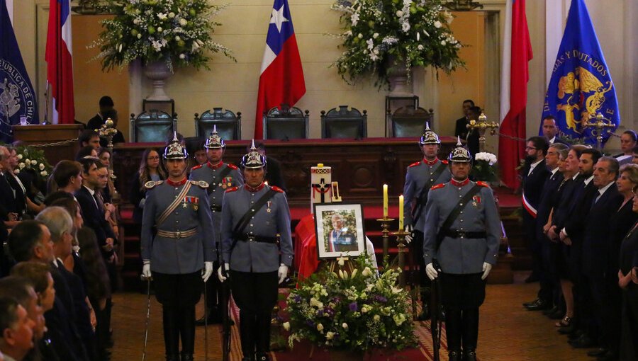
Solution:
[{"label": "blue banner with golden coat of arms at right", "polygon": [[[593,129],[583,125],[597,113],[603,114],[615,127],[620,125],[614,83],[587,7],[583,0],[572,0],[545,94],[543,118],[554,115],[556,125],[564,135],[595,144]],[[539,134],[542,135],[542,122]],[[603,134],[603,142],[608,137],[609,134]]]}]

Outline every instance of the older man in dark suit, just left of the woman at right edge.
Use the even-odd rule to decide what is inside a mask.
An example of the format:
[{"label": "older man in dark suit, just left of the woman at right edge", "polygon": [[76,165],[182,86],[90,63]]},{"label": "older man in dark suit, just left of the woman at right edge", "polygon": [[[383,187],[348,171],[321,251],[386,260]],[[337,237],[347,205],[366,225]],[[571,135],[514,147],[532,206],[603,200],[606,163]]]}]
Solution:
[{"label": "older man in dark suit, just left of the woman at right edge", "polygon": [[[593,200],[583,207],[589,212],[583,221],[582,273],[593,300],[593,324],[590,329],[598,331],[598,342],[607,350],[599,355],[599,361],[617,360],[620,353],[620,333],[612,324],[615,303],[608,302],[608,277],[610,259],[610,217],[622,204],[623,197],[615,185],[618,177],[618,161],[610,156],[603,156],[594,166],[593,184],[597,188]],[[617,287],[617,285],[615,285]]]}]

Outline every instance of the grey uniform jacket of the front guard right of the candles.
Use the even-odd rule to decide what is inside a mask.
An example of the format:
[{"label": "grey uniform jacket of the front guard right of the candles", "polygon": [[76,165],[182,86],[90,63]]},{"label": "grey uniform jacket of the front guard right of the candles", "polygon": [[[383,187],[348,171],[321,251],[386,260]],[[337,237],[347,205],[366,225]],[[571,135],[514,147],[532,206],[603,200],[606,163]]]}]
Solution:
[{"label": "grey uniform jacket of the front guard right of the candles", "polygon": [[474,182],[466,180],[462,185],[448,183],[435,185],[430,190],[430,198],[425,209],[425,231],[423,257],[425,264],[437,258],[444,273],[480,273],[483,262],[496,264],[500,240],[500,219],[494,195],[485,183],[473,199],[461,210],[450,229],[457,231],[485,231],[484,239],[468,239],[446,236],[437,249],[437,232],[447,216],[457,206],[459,199],[474,187]]}]

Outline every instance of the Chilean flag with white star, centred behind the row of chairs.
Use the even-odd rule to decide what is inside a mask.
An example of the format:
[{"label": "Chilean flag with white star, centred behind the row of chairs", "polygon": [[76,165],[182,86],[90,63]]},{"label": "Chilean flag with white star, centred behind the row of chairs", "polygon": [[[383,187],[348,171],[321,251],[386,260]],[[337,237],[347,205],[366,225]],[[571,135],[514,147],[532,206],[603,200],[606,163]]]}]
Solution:
[{"label": "Chilean flag with white star, centred behind the row of chairs", "polygon": [[275,0],[272,6],[266,49],[262,60],[254,116],[254,139],[264,137],[264,111],[283,104],[295,105],[306,93],[301,58],[297,48],[287,0]]}]

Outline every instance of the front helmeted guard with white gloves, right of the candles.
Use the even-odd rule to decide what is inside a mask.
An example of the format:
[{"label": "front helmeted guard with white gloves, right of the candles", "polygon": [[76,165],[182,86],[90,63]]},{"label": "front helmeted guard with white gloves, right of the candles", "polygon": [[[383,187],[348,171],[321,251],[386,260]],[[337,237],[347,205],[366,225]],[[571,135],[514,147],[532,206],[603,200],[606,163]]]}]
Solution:
[{"label": "front helmeted guard with white gloves, right of the candles", "polygon": [[425,272],[430,280],[440,276],[449,360],[475,361],[478,307],[496,264],[500,219],[491,188],[469,180],[471,154],[460,141],[448,160],[452,179],[432,187],[425,207]]}]

